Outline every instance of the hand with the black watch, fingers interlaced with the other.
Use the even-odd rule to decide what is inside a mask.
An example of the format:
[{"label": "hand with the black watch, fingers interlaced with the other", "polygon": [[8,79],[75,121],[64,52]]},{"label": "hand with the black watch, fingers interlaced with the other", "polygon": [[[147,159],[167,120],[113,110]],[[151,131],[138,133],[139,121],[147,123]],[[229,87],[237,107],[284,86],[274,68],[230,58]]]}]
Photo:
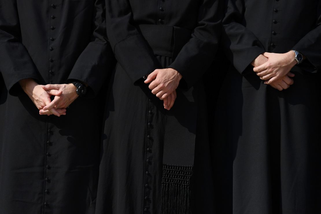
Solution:
[{"label": "hand with the black watch, fingers interlaced with the other", "polygon": [[52,108],[66,108],[79,96],[76,92],[74,84],[48,84],[42,86],[49,94],[51,90],[60,90],[62,94],[55,96],[50,104],[39,111],[40,114],[47,114],[47,111]]}]

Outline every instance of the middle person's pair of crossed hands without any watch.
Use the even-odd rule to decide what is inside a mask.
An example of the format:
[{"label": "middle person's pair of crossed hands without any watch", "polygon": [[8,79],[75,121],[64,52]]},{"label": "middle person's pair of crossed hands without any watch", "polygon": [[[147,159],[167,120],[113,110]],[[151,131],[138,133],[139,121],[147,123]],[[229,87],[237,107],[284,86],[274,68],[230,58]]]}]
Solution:
[{"label": "middle person's pair of crossed hands without any watch", "polygon": [[164,108],[170,110],[176,100],[176,89],[182,75],[172,68],[156,69],[148,75],[144,83],[149,84],[148,88],[152,94],[164,101]]}]

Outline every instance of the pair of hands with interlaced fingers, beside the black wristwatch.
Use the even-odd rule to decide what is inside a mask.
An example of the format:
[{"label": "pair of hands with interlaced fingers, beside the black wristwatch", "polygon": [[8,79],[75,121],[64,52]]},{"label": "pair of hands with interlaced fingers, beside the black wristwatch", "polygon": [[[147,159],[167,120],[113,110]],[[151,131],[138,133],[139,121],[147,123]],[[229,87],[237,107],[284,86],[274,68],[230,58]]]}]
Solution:
[{"label": "pair of hands with interlaced fingers, beside the black wristwatch", "polygon": [[[19,83],[39,109],[40,115],[66,115],[66,107],[78,97],[73,84],[39,85],[33,79],[21,80]],[[51,96],[55,96],[52,101]]]}]

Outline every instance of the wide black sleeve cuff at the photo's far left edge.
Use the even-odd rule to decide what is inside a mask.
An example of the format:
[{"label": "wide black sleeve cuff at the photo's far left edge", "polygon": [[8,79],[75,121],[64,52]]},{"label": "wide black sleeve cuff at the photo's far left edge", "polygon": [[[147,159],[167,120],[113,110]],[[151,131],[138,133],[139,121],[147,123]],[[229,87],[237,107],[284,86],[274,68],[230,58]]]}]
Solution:
[{"label": "wide black sleeve cuff at the photo's far left edge", "polygon": [[10,94],[15,94],[20,80],[33,78],[39,82],[39,73],[27,49],[21,43],[0,44],[0,72]]}]

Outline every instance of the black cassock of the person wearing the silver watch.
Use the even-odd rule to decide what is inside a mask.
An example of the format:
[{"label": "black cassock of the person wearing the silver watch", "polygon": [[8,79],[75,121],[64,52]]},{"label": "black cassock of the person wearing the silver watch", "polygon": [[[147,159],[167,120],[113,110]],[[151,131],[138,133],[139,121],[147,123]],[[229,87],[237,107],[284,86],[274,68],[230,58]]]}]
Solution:
[{"label": "black cassock of the person wearing the silver watch", "polygon": [[[221,199],[233,214],[321,213],[321,1],[226,4],[222,38],[234,67],[213,130],[224,172],[218,179],[227,187]],[[253,72],[250,63],[261,53],[292,49],[307,59],[291,70],[289,89],[273,89]]]}]

